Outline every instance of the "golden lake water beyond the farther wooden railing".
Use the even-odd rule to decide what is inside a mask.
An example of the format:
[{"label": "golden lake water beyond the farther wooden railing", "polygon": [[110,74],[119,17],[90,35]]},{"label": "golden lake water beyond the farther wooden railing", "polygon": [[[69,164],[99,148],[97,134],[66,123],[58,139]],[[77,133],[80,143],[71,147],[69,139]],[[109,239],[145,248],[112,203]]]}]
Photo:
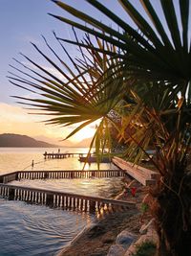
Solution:
[{"label": "golden lake water beyond the farther wooden railing", "polygon": [[[0,148],[0,174],[11,173],[22,170],[81,170],[83,163],[78,161],[78,157],[65,159],[47,159],[43,153],[57,152],[57,149],[47,148]],[[88,152],[88,148],[65,148],[60,152]],[[34,166],[32,168],[32,160]],[[109,164],[102,163],[100,169],[108,169]],[[111,166],[111,168],[116,168]],[[85,169],[96,169],[96,163],[86,165]]]}]

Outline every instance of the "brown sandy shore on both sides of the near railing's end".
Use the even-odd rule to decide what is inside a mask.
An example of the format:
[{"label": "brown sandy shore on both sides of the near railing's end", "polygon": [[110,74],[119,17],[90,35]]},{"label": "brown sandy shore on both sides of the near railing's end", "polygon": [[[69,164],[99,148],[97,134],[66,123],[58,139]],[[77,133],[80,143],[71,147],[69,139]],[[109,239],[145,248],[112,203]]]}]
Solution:
[{"label": "brown sandy shore on both sides of the near railing's end", "polygon": [[[131,182],[132,180],[128,178],[128,184]],[[109,213],[105,218],[94,221],[90,226],[82,229],[74,237],[73,241],[61,249],[56,256],[106,256],[110,246],[115,244],[117,235],[124,229],[139,238],[139,229],[142,225],[139,223],[139,206],[146,193],[146,187],[141,186],[137,181],[135,183],[138,187],[138,193],[135,198],[130,195],[127,196],[125,190],[116,197],[135,201],[135,209]]]}]

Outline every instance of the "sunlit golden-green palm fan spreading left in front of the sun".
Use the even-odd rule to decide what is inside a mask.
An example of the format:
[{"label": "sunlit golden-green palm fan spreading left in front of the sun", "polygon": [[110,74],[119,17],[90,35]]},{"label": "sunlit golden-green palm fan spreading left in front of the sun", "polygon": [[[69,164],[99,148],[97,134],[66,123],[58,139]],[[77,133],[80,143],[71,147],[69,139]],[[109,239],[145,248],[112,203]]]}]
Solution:
[{"label": "sunlit golden-green palm fan spreading left in front of the sun", "polygon": [[[75,32],[74,35],[78,42]],[[105,148],[111,148],[110,124],[113,123],[114,128],[117,128],[111,109],[118,105],[126,91],[121,86],[123,77],[119,76],[120,68],[117,64],[119,58],[109,59],[107,54],[97,53],[90,36],[85,35],[84,41],[88,45],[86,52],[82,51],[79,46],[81,56],[73,59],[62,42],[55,34],[54,36],[64,51],[63,58],[56,54],[44,36],[43,39],[58,63],[32,43],[40,56],[52,65],[54,72],[50,72],[50,68],[40,66],[35,60],[23,54],[21,56],[28,60],[28,64],[23,64],[23,61],[13,58],[16,64],[10,66],[15,72],[9,72],[9,80],[13,85],[29,91],[33,97],[12,97],[18,100],[18,104],[27,105],[27,109],[32,110],[32,113],[51,116],[45,121],[47,124],[65,127],[77,125],[65,139],[73,136],[79,129],[99,120],[90,151],[96,144],[97,159],[100,160],[99,152],[103,152]],[[112,51],[114,55],[117,55],[117,49],[111,44],[104,43],[103,40],[95,38],[94,45],[97,45],[100,52]],[[106,70],[108,70],[107,73]],[[111,84],[113,90],[109,87]]]}]

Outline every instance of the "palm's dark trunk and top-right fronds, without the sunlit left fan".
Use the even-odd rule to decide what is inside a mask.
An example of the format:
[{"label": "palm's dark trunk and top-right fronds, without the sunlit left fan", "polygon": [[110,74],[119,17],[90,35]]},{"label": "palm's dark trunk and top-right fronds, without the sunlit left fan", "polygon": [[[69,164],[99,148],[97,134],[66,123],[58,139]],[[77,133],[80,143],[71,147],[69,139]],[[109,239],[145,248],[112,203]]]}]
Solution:
[{"label": "palm's dark trunk and top-right fronds, without the sunlit left fan", "polygon": [[[179,3],[180,25],[173,1],[160,1],[167,24],[165,29],[160,22],[159,13],[150,1],[140,1],[150,19],[148,23],[138,12],[136,4],[119,0],[119,4],[136,23],[140,33],[96,0],[87,2],[116,22],[121,31],[114,30],[92,15],[74,10],[60,1],[53,2],[90,24],[93,29],[53,15],[55,18],[103,38],[123,51],[124,55],[120,56],[123,77],[131,76],[138,82],[139,87],[141,84],[141,88],[133,92],[138,102],[136,110],[124,121],[124,128],[133,118],[137,118],[142,126],[141,129],[138,128],[135,136],[131,136],[130,148],[144,151],[149,137],[152,137],[158,150],[155,163],[161,178],[155,194],[155,216],[159,231],[159,255],[191,254],[190,173],[186,169],[191,140],[189,1],[182,0]],[[138,93],[141,90],[144,91],[143,94]]]}]

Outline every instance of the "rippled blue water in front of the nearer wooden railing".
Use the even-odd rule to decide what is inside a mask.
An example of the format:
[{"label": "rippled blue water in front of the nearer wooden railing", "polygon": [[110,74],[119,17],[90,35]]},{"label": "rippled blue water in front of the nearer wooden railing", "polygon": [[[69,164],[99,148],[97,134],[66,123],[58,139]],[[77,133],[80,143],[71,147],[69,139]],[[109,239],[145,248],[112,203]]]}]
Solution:
[{"label": "rippled blue water in front of the nearer wooden railing", "polygon": [[55,255],[94,217],[0,199],[0,255]]}]

